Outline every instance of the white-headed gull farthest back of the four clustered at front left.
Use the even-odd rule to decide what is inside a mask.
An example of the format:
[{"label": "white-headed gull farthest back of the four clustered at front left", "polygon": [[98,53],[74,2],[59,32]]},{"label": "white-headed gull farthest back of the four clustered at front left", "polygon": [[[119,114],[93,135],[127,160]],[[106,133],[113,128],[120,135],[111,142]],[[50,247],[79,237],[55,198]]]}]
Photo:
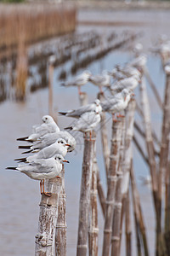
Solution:
[{"label": "white-headed gull farthest back of the four clustered at front left", "polygon": [[39,137],[55,131],[59,131],[59,126],[50,115],[44,115],[42,117],[42,125],[33,125],[32,134],[29,137],[20,137],[17,141],[34,142],[37,141]]}]

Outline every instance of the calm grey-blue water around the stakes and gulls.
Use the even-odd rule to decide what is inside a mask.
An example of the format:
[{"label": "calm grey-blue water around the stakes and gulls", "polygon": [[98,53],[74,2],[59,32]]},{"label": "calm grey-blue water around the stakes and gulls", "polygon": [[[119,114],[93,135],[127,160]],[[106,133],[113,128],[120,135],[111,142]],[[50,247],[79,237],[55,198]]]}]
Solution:
[{"label": "calm grey-blue water around the stakes and gulls", "polygon": [[[157,16],[158,15],[158,16]],[[104,12],[80,12],[78,18],[83,19],[102,19],[108,20],[140,20],[146,19],[148,21],[159,20],[156,26],[135,27],[136,31],[144,32],[144,37],[141,38],[144,44],[144,51],[149,49],[153,39],[157,38],[158,34],[169,32],[167,30],[167,12],[124,12],[111,13]],[[158,18],[159,19],[158,19]],[[81,26],[77,28],[79,31],[86,31],[91,27]],[[96,27],[100,32],[105,33],[105,27]],[[124,27],[116,27],[116,30],[123,30]],[[131,28],[132,29],[132,28]],[[111,30],[111,28],[108,28]],[[96,61],[89,65],[88,69],[92,73],[99,73],[102,69],[111,70],[117,63],[124,63],[132,58],[129,52],[116,51],[106,55],[102,61]],[[67,64],[65,64],[65,68]],[[161,97],[164,90],[164,76],[161,70],[161,61],[157,56],[149,55],[147,66],[150,71],[150,76],[156,83]],[[81,71],[79,71],[81,72]],[[59,87],[58,81],[59,70],[56,68],[54,72],[54,110],[65,110],[77,108],[79,106],[77,89],[65,89]],[[70,75],[71,76],[71,75]],[[84,86],[84,91],[88,92],[89,102],[94,101],[98,92],[97,88],[92,84]],[[156,105],[154,97],[149,90],[150,108],[152,111],[153,126],[157,127],[159,133],[161,114]],[[135,92],[137,101],[138,90]],[[37,223],[39,213],[39,184],[25,175],[18,172],[5,171],[6,166],[14,166],[14,158],[20,157],[20,149],[17,148],[19,143],[15,141],[17,137],[26,136],[31,132],[31,126],[41,122],[43,114],[48,113],[48,90],[37,90],[34,94],[27,96],[25,103],[16,103],[13,101],[6,101],[0,105],[0,159],[1,159],[1,172],[0,172],[0,253],[3,256],[16,255],[16,256],[30,256],[34,255],[34,241],[37,234]],[[109,119],[108,115],[108,119]],[[138,117],[137,117],[138,118]],[[71,119],[59,117],[59,127],[63,129],[71,123]],[[111,132],[111,122],[108,122],[108,134]],[[101,143],[99,132],[97,134],[97,159],[99,162],[101,177],[105,187],[105,172],[103,158],[101,154]],[[139,176],[146,176],[148,168],[141,160],[139,153],[134,150],[134,167],[139,185],[139,193],[141,196],[142,207],[144,212],[144,221],[147,227],[147,236],[149,239],[150,255],[154,252],[154,212],[152,201],[150,197],[150,189],[143,186],[139,182]],[[67,251],[69,256],[76,254],[77,246],[77,224],[78,224],[78,201],[81,182],[82,170],[82,151],[83,141],[82,134],[78,137],[78,145],[76,151],[72,154],[67,154],[66,159],[70,160],[70,165],[65,166],[65,189],[67,196]],[[99,254],[101,254],[102,247],[102,230],[103,230],[103,217],[99,208]],[[134,238],[133,243],[135,244]],[[123,246],[124,242],[122,243]],[[135,251],[133,255],[135,255]],[[123,255],[123,253],[122,253]]]}]

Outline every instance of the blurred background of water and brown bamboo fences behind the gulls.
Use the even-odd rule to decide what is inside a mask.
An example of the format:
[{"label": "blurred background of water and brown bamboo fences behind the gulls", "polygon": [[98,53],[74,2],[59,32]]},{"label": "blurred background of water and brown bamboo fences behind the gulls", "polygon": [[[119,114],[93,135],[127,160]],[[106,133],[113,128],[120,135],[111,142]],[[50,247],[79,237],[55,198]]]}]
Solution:
[{"label": "blurred background of water and brown bamboo fences behind the gulls", "polygon": [[[150,52],[160,37],[170,37],[170,1],[0,1],[0,253],[3,256],[34,254],[39,214],[39,184],[18,172],[5,171],[20,157],[17,137],[31,133],[31,126],[49,113],[49,57],[55,55],[52,112],[61,130],[72,119],[57,116],[58,111],[79,107],[77,89],[63,88],[84,69],[91,73],[111,71],[117,64],[133,59],[136,45],[148,55],[150,77],[163,98],[165,77],[161,60]],[[18,3],[14,3],[18,2]],[[97,87],[82,88],[93,102]],[[152,124],[161,130],[161,114],[149,89]],[[136,93],[138,102],[138,92]],[[138,118],[138,117],[137,117]],[[140,122],[140,120],[139,120]],[[108,124],[111,123],[108,115]],[[140,123],[139,123],[140,124]],[[111,137],[111,124],[108,136]],[[74,134],[74,133],[73,133]],[[65,166],[67,207],[67,252],[76,254],[78,203],[82,172],[83,138],[77,133],[77,148],[67,154]],[[97,132],[97,160],[105,188],[104,162]],[[133,147],[135,175],[147,226],[150,255],[154,254],[155,222],[150,187],[139,177],[147,177],[145,166]],[[99,208],[99,254],[104,219]],[[135,241],[133,240],[133,243]],[[125,255],[122,242],[122,255]],[[135,248],[135,247],[134,247]],[[135,250],[135,249],[134,249]],[[136,255],[136,252],[133,252]]]}]

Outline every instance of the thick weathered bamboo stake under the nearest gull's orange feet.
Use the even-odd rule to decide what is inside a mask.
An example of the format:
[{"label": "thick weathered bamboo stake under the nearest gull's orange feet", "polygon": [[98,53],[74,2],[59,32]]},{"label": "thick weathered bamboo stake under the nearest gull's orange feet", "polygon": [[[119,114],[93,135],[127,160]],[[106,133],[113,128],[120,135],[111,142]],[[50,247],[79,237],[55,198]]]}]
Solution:
[{"label": "thick weathered bamboo stake under the nearest gull's orange feet", "polygon": [[54,177],[46,184],[51,197],[42,194],[38,233],[36,236],[36,256],[55,255],[55,229],[58,218],[59,194],[62,189],[61,178]]}]

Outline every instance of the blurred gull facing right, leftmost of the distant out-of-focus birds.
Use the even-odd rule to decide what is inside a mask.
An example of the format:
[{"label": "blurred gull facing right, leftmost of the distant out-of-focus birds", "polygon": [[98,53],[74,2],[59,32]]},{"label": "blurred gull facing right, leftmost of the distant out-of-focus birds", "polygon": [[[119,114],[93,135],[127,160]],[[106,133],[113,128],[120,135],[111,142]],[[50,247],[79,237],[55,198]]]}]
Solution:
[{"label": "blurred gull facing right, leftmost of the distant out-of-focus birds", "polygon": [[77,86],[78,88],[78,94],[81,95],[81,86],[88,83],[89,77],[91,73],[88,70],[85,70],[83,73],[78,75],[75,79],[72,81],[68,81],[65,83],[62,83],[62,86],[69,87],[69,86]]}]

